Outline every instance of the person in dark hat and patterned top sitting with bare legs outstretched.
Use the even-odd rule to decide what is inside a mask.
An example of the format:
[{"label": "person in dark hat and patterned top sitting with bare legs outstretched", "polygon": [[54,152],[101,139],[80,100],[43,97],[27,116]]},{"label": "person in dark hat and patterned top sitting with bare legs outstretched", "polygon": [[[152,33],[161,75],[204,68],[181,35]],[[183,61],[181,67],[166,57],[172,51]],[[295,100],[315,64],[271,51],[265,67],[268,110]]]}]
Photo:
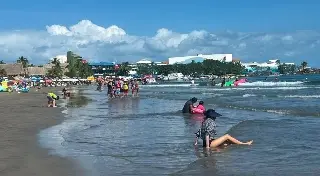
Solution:
[{"label": "person in dark hat and patterned top sitting with bare legs outstretched", "polygon": [[206,148],[216,148],[225,144],[239,144],[239,145],[251,145],[252,140],[248,142],[241,142],[236,138],[225,134],[219,138],[214,138],[216,133],[216,123],[215,120],[217,117],[220,117],[221,114],[215,112],[213,109],[208,109],[205,112],[205,120],[202,122],[201,129],[196,133],[195,145],[198,144],[198,138],[201,138],[203,141],[203,147]]}]

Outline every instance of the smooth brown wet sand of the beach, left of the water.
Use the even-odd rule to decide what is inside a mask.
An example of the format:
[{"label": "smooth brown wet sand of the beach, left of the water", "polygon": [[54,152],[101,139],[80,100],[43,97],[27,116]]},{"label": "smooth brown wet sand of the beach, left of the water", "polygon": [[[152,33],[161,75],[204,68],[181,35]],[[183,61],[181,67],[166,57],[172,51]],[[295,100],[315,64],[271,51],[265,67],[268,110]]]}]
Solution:
[{"label": "smooth brown wet sand of the beach, left of the water", "polygon": [[0,93],[1,176],[84,175],[70,159],[50,155],[39,146],[40,130],[63,120],[59,108],[46,107],[47,91]]}]

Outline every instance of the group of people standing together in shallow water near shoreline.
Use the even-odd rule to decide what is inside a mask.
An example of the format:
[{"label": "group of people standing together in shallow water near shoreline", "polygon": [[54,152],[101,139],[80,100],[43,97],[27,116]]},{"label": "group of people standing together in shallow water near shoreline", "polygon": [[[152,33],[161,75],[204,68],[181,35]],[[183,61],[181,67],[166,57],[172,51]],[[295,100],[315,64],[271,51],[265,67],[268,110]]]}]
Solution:
[{"label": "group of people standing together in shallow water near shoreline", "polygon": [[101,91],[102,86],[108,88],[108,96],[110,98],[128,97],[131,90],[132,96],[139,96],[139,83],[136,79],[125,80],[123,78],[99,80],[97,90]]}]

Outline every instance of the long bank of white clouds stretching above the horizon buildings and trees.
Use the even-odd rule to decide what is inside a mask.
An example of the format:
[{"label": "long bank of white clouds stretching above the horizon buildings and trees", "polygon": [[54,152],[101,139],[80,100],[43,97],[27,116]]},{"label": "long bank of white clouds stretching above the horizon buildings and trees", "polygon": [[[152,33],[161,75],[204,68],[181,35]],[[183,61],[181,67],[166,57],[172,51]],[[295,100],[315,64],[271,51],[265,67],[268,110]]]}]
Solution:
[{"label": "long bank of white clouds stretching above the horizon buildings and trees", "polygon": [[[72,50],[92,61],[136,61],[144,57],[166,60],[199,53],[232,53],[245,61],[279,57],[300,62],[312,59],[319,50],[319,41],[317,31],[281,34],[195,30],[178,33],[162,28],[154,36],[135,36],[115,25],[102,27],[82,20],[70,27],[55,24],[40,31],[2,31],[0,60],[15,61],[23,55],[34,63],[44,63]],[[318,64],[316,58],[313,64]]]}]

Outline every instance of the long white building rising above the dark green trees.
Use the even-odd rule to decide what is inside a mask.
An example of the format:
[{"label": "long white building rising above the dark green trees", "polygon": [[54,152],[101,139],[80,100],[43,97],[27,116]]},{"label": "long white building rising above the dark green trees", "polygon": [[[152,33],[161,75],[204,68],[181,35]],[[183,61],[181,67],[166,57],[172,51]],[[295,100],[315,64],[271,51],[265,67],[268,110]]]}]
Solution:
[{"label": "long white building rising above the dark green trees", "polygon": [[169,64],[172,65],[172,64],[184,62],[192,58],[199,58],[199,57],[202,57],[204,59],[232,62],[232,54],[210,54],[210,55],[197,54],[196,56],[170,57],[168,58],[168,61],[169,61]]}]

